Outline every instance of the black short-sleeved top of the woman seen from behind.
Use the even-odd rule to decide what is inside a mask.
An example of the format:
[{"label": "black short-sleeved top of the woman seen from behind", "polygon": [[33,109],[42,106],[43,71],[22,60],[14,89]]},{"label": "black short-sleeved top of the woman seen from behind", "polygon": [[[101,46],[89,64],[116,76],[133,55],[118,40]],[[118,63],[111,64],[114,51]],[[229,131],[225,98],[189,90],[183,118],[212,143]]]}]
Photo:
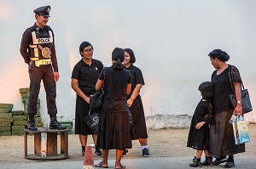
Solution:
[{"label": "black short-sleeved top of the woman seen from behind", "polygon": [[106,74],[102,110],[127,111],[126,87],[131,83],[131,72],[126,69],[113,69],[113,65],[105,67],[99,76],[102,81],[103,71],[106,71]]}]

